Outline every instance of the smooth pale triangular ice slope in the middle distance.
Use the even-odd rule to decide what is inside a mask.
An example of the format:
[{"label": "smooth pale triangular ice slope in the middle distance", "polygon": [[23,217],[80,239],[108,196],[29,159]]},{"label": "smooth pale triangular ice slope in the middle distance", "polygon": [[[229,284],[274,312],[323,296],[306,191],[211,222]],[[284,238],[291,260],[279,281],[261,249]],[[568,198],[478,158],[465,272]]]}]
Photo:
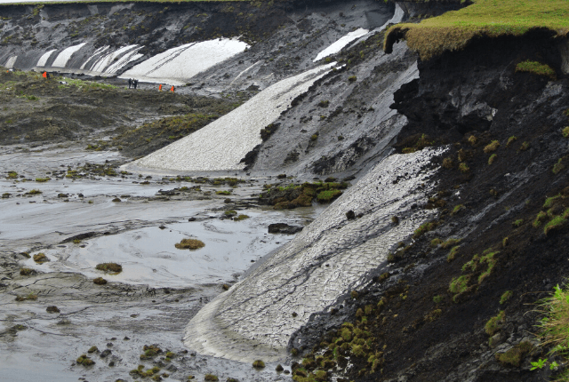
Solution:
[{"label": "smooth pale triangular ice slope in the middle distance", "polygon": [[333,65],[335,62],[273,84],[231,113],[132,165],[174,171],[241,170],[244,164],[239,161],[262,141],[260,129],[275,121]]}]

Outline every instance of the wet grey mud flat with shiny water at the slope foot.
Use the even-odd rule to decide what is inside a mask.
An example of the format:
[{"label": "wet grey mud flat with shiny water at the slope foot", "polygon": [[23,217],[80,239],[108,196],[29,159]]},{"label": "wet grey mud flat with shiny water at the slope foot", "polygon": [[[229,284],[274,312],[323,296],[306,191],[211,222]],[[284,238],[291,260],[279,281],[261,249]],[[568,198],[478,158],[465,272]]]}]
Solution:
[{"label": "wet grey mud flat with shiny water at the slope foot", "polygon": [[[291,240],[268,234],[270,223],[302,227],[321,209],[258,205],[257,195],[274,178],[140,176],[118,170],[126,158],[117,151],[77,142],[30,146],[0,149],[4,375],[21,381],[284,378],[273,371],[276,364],[255,370],[195,354],[181,342],[183,328]],[[205,247],[176,249],[183,238]],[[37,262],[40,253],[49,261]],[[105,262],[120,263],[123,272],[95,269]],[[99,277],[107,283],[93,283]]]}]

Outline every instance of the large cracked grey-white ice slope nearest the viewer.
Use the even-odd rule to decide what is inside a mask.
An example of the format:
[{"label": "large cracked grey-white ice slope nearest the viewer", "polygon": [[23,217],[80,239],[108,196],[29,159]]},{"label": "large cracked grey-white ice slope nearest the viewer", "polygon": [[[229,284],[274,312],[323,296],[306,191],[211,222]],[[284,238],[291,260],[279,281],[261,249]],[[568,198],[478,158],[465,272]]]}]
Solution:
[{"label": "large cracked grey-white ice slope nearest the viewer", "polygon": [[[276,252],[188,323],[184,343],[201,354],[276,361],[294,331],[381,266],[390,248],[434,212],[412,209],[425,198],[428,164],[443,150],[391,155]],[[349,220],[346,212],[362,213]],[[394,224],[391,217],[399,217]],[[293,314],[294,313],[294,314]]]}]

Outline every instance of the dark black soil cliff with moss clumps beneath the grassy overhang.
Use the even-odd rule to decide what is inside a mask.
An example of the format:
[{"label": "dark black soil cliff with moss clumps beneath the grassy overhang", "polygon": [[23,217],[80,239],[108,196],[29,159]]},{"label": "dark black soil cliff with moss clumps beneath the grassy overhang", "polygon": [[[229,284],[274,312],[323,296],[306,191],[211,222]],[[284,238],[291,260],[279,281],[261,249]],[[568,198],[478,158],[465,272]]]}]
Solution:
[{"label": "dark black soil cliff with moss clumps beneath the grassy overhang", "polygon": [[[437,192],[418,206],[438,209],[438,219],[292,346],[306,353],[307,340],[319,344],[307,358],[330,356],[355,380],[537,381],[554,373],[530,371],[529,362],[548,350],[534,336],[535,303],[569,274],[569,80],[556,44],[543,33],[480,40],[420,64],[420,78],[395,95],[392,107],[409,120],[396,146],[448,147],[432,179]],[[516,73],[523,60],[548,64],[557,79]],[[338,326],[342,314],[353,329]],[[304,362],[325,369],[317,363]]]}]

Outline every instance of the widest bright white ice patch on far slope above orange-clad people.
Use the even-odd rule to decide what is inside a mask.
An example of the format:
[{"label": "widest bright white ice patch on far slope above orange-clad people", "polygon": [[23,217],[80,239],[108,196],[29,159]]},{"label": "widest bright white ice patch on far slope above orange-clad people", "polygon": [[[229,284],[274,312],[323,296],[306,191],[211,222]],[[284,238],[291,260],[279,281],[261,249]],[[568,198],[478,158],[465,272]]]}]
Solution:
[{"label": "widest bright white ice patch on far slope above orange-clad people", "polygon": [[182,85],[188,78],[228,60],[247,47],[249,45],[244,42],[228,38],[185,44],[141,62],[119,78]]}]

